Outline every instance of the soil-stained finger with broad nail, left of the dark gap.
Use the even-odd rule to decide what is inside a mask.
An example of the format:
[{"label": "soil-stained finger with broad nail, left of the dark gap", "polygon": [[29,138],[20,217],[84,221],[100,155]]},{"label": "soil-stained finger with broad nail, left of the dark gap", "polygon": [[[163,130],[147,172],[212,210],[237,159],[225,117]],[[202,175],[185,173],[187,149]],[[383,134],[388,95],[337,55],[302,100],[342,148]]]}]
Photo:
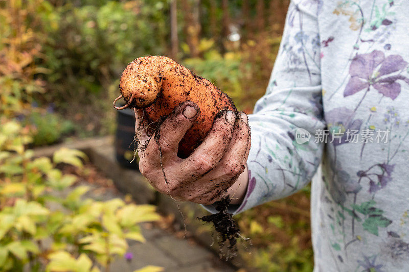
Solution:
[{"label": "soil-stained finger with broad nail, left of the dark gap", "polygon": [[160,129],[151,137],[145,150],[145,156],[150,163],[166,164],[177,154],[179,141],[193,125],[199,115],[199,107],[191,102],[175,108],[174,112],[166,118]]}]

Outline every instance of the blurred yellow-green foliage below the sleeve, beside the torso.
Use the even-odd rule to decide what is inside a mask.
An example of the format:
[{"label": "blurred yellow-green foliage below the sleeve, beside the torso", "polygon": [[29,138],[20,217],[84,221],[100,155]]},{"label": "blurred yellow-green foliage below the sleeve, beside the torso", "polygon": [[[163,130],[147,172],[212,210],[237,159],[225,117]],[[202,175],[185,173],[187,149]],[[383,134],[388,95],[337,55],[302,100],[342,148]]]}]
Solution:
[{"label": "blurred yellow-green foliage below the sleeve, beside the torso", "polygon": [[[310,189],[265,203],[237,215],[242,242],[240,256],[257,271],[307,272],[313,269],[310,233]],[[251,254],[249,254],[251,252]]]}]

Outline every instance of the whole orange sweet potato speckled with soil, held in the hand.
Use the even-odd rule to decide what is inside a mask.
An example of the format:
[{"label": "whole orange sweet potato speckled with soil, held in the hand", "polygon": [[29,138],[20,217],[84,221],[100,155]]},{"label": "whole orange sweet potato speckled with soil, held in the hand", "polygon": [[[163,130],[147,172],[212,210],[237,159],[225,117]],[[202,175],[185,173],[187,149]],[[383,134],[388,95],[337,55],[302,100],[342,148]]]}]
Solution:
[{"label": "whole orange sweet potato speckled with soil, held in the hand", "polygon": [[[168,116],[180,103],[192,101],[199,107],[199,115],[179,143],[178,156],[188,157],[211,130],[213,121],[222,110],[237,109],[230,97],[210,81],[163,56],[141,57],[125,68],[119,83],[122,93],[114,102],[116,109],[134,107],[144,109],[150,126]],[[121,97],[126,105],[115,106]]]}]

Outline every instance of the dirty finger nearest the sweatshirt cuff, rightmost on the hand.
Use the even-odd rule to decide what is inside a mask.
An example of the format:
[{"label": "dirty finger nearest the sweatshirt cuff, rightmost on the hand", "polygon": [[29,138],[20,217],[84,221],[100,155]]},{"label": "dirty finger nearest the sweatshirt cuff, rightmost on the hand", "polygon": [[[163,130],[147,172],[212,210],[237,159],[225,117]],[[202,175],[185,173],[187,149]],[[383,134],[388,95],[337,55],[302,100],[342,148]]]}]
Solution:
[{"label": "dirty finger nearest the sweatshirt cuff, rightmost on the hand", "polygon": [[247,115],[241,112],[228,149],[223,159],[217,164],[215,171],[212,172],[210,179],[216,183],[226,180],[234,183],[234,179],[244,171],[250,144]]}]

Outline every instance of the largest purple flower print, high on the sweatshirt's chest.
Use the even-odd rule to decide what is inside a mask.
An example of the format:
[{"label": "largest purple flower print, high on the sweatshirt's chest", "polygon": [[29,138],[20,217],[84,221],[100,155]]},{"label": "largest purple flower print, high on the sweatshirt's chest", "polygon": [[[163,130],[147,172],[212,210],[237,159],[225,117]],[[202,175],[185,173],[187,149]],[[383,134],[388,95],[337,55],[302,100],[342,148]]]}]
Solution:
[{"label": "largest purple flower print, high on the sweatshirt's chest", "polygon": [[385,58],[383,52],[378,50],[356,55],[349,67],[351,79],[345,87],[344,97],[361,90],[369,90],[372,86],[379,93],[395,100],[400,93],[400,84],[396,81],[403,80],[409,84],[409,79],[398,72],[407,64],[399,55]]}]

